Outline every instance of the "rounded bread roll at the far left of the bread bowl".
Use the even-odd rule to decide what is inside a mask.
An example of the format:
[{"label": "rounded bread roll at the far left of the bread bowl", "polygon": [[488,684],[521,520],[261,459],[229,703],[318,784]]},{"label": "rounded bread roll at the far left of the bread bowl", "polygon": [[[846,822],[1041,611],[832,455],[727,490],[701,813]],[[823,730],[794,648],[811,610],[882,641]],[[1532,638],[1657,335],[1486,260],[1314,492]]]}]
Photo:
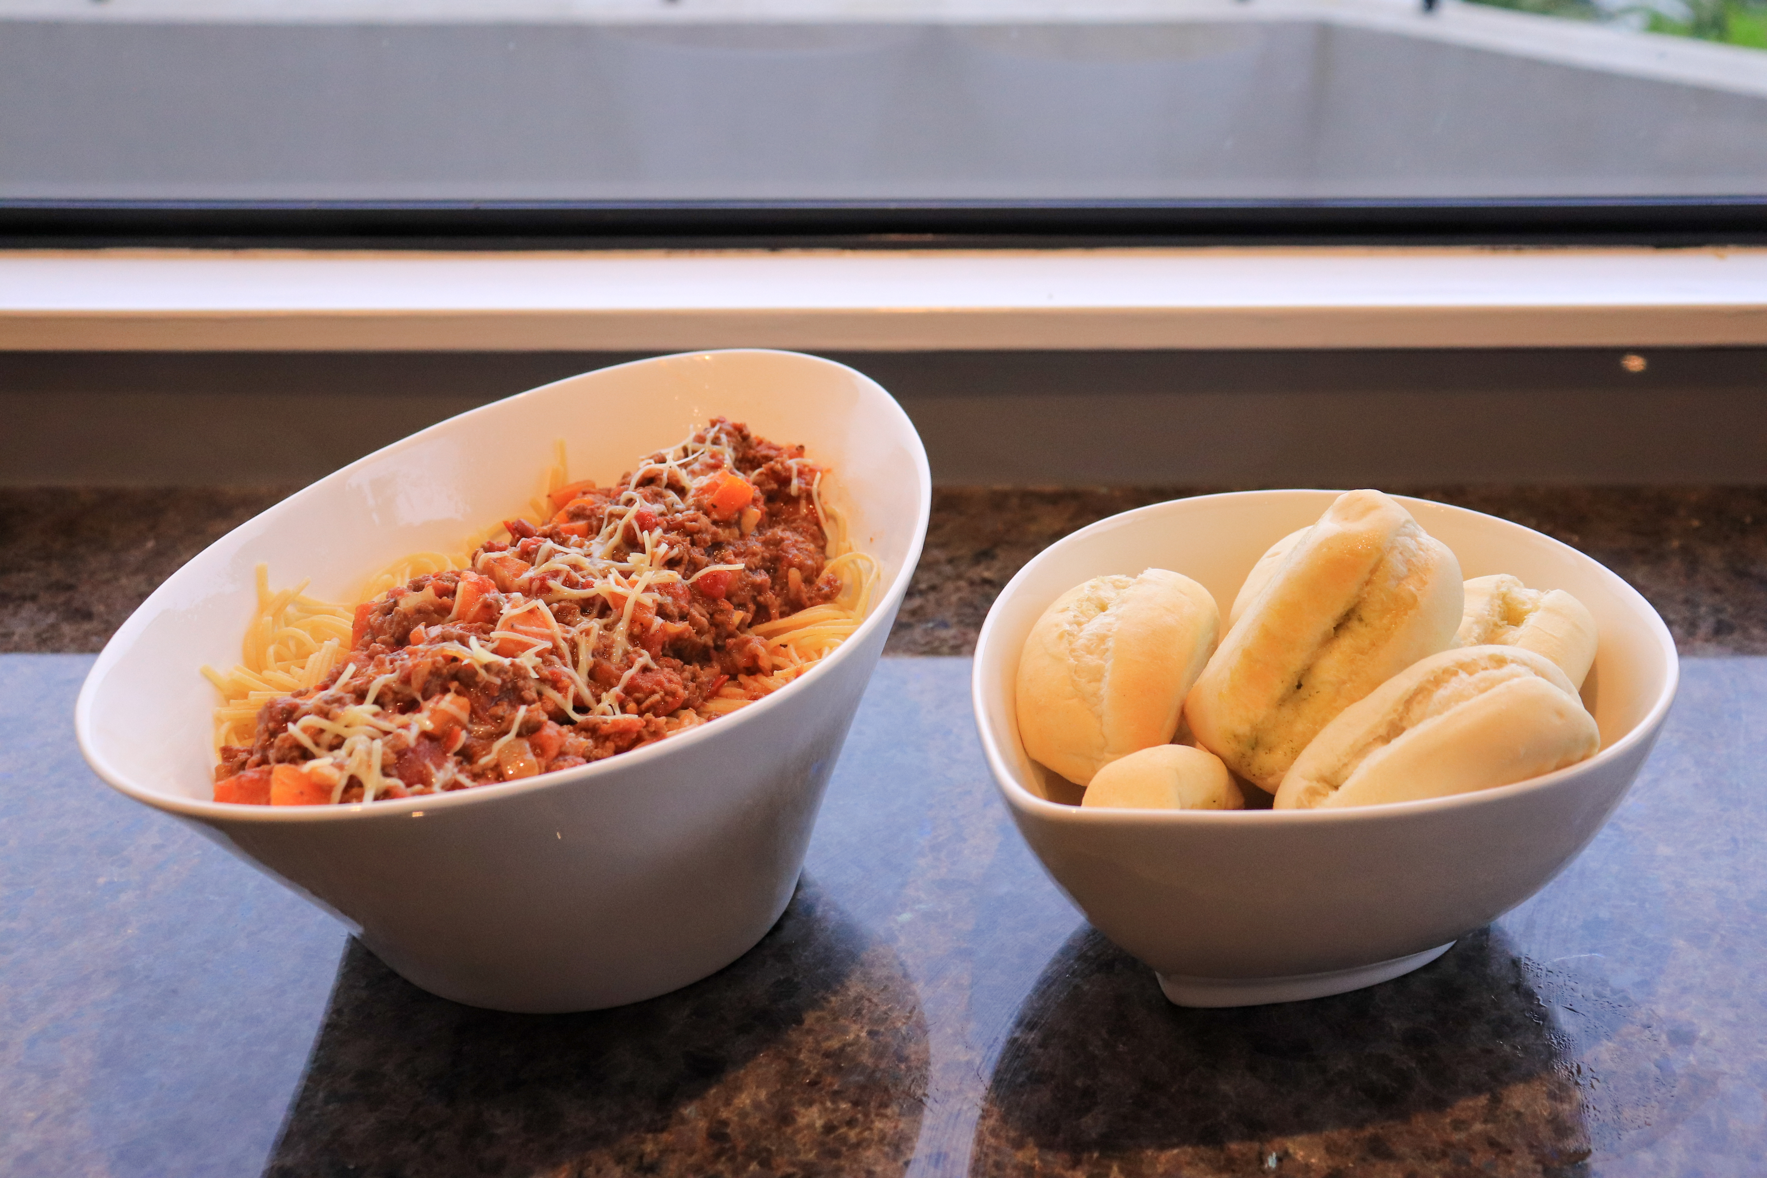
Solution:
[{"label": "rounded bread roll at the far left of the bread bowl", "polygon": [[1166,744],[1219,629],[1209,590],[1164,569],[1067,590],[1018,659],[1025,752],[1085,786],[1110,761]]}]

